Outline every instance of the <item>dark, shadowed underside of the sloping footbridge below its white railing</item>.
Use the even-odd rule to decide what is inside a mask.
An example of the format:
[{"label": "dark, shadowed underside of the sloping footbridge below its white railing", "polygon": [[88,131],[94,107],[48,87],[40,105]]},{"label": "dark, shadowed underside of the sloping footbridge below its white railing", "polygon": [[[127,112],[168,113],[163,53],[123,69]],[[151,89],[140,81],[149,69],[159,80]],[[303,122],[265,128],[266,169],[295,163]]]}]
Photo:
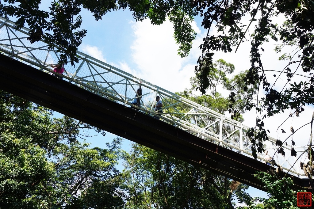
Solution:
[{"label": "dark, shadowed underside of the sloping footbridge below its white railing", "polygon": [[[120,137],[264,190],[263,184],[253,174],[268,171],[269,165],[1,54],[0,88]],[[294,189],[311,190],[310,180],[293,179]]]}]

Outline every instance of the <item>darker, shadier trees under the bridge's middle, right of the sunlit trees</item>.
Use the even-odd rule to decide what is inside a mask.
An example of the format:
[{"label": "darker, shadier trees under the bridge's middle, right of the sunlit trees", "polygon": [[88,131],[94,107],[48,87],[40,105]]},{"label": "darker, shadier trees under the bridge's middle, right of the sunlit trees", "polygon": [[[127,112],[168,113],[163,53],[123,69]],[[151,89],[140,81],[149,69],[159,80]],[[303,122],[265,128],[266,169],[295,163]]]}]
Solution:
[{"label": "darker, shadier trees under the bridge's middle, right of the sunlit trees", "polygon": [[128,208],[235,208],[247,185],[138,144],[125,156]]}]

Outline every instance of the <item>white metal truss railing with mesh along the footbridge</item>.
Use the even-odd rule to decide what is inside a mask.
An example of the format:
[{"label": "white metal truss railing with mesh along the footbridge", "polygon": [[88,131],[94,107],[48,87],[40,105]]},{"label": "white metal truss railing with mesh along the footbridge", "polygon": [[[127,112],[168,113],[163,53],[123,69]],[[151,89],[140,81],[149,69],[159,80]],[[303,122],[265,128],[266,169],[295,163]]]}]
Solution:
[{"label": "white metal truss railing with mesh along the footbridge", "polygon": [[[0,51],[36,69],[51,73],[53,69],[50,64],[58,63],[58,54],[53,50],[48,50],[47,44],[43,41],[30,44],[27,40],[28,31],[27,28],[15,30],[14,22],[0,17]],[[136,91],[141,85],[142,96],[138,97],[141,104],[139,111],[158,116],[160,120],[180,127],[204,140],[253,158],[252,143],[246,137],[248,126],[82,52],[78,51],[77,56],[79,62],[75,66],[65,65],[65,72],[62,75],[64,80],[129,107],[135,107],[131,103],[137,97]],[[154,111],[156,96],[160,96],[163,103],[162,115],[156,115]],[[276,140],[272,137],[265,142],[264,146],[268,150],[268,155],[274,156],[275,161],[283,167],[284,171],[289,170],[290,174],[306,177],[305,174],[300,174],[300,160],[299,163],[295,163],[300,155],[305,153],[306,147],[295,148],[297,156],[293,157],[290,156],[291,147],[283,145],[287,153],[284,157],[281,154],[275,154],[277,150],[275,144]],[[258,160],[267,162],[264,155],[259,155]]]}]

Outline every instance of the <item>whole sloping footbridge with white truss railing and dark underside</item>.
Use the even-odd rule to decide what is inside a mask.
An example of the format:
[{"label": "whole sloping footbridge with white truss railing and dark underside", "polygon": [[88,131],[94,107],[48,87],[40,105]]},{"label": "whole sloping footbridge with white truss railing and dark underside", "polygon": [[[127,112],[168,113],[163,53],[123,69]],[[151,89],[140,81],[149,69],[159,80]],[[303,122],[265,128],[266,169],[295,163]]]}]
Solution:
[{"label": "whole sloping footbridge with white truss railing and dark underside", "polygon": [[[50,75],[59,55],[45,42],[30,44],[29,30],[14,29],[14,22],[0,17],[0,88],[118,136],[164,152],[264,190],[253,177],[271,166],[265,155],[252,157],[250,127],[194,103],[166,89],[77,51],[79,62],[65,65],[63,79]],[[140,110],[130,108],[142,86]],[[160,96],[163,114],[153,118]],[[268,155],[293,177],[295,189],[311,189],[311,180],[300,170],[307,147],[283,145],[277,154],[276,139],[265,142]]]}]

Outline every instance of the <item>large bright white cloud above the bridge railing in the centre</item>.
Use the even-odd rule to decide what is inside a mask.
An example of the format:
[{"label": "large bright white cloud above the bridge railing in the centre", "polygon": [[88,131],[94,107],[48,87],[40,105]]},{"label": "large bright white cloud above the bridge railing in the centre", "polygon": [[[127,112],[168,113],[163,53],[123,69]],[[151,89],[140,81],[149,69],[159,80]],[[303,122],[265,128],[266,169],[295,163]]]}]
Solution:
[{"label": "large bright white cloud above the bridge railing in the centre", "polygon": [[194,41],[191,54],[181,58],[169,20],[162,25],[152,25],[149,20],[133,22],[132,28],[135,40],[131,49],[138,77],[171,92],[188,88],[189,79],[195,76],[195,45],[199,45],[199,38]]}]

